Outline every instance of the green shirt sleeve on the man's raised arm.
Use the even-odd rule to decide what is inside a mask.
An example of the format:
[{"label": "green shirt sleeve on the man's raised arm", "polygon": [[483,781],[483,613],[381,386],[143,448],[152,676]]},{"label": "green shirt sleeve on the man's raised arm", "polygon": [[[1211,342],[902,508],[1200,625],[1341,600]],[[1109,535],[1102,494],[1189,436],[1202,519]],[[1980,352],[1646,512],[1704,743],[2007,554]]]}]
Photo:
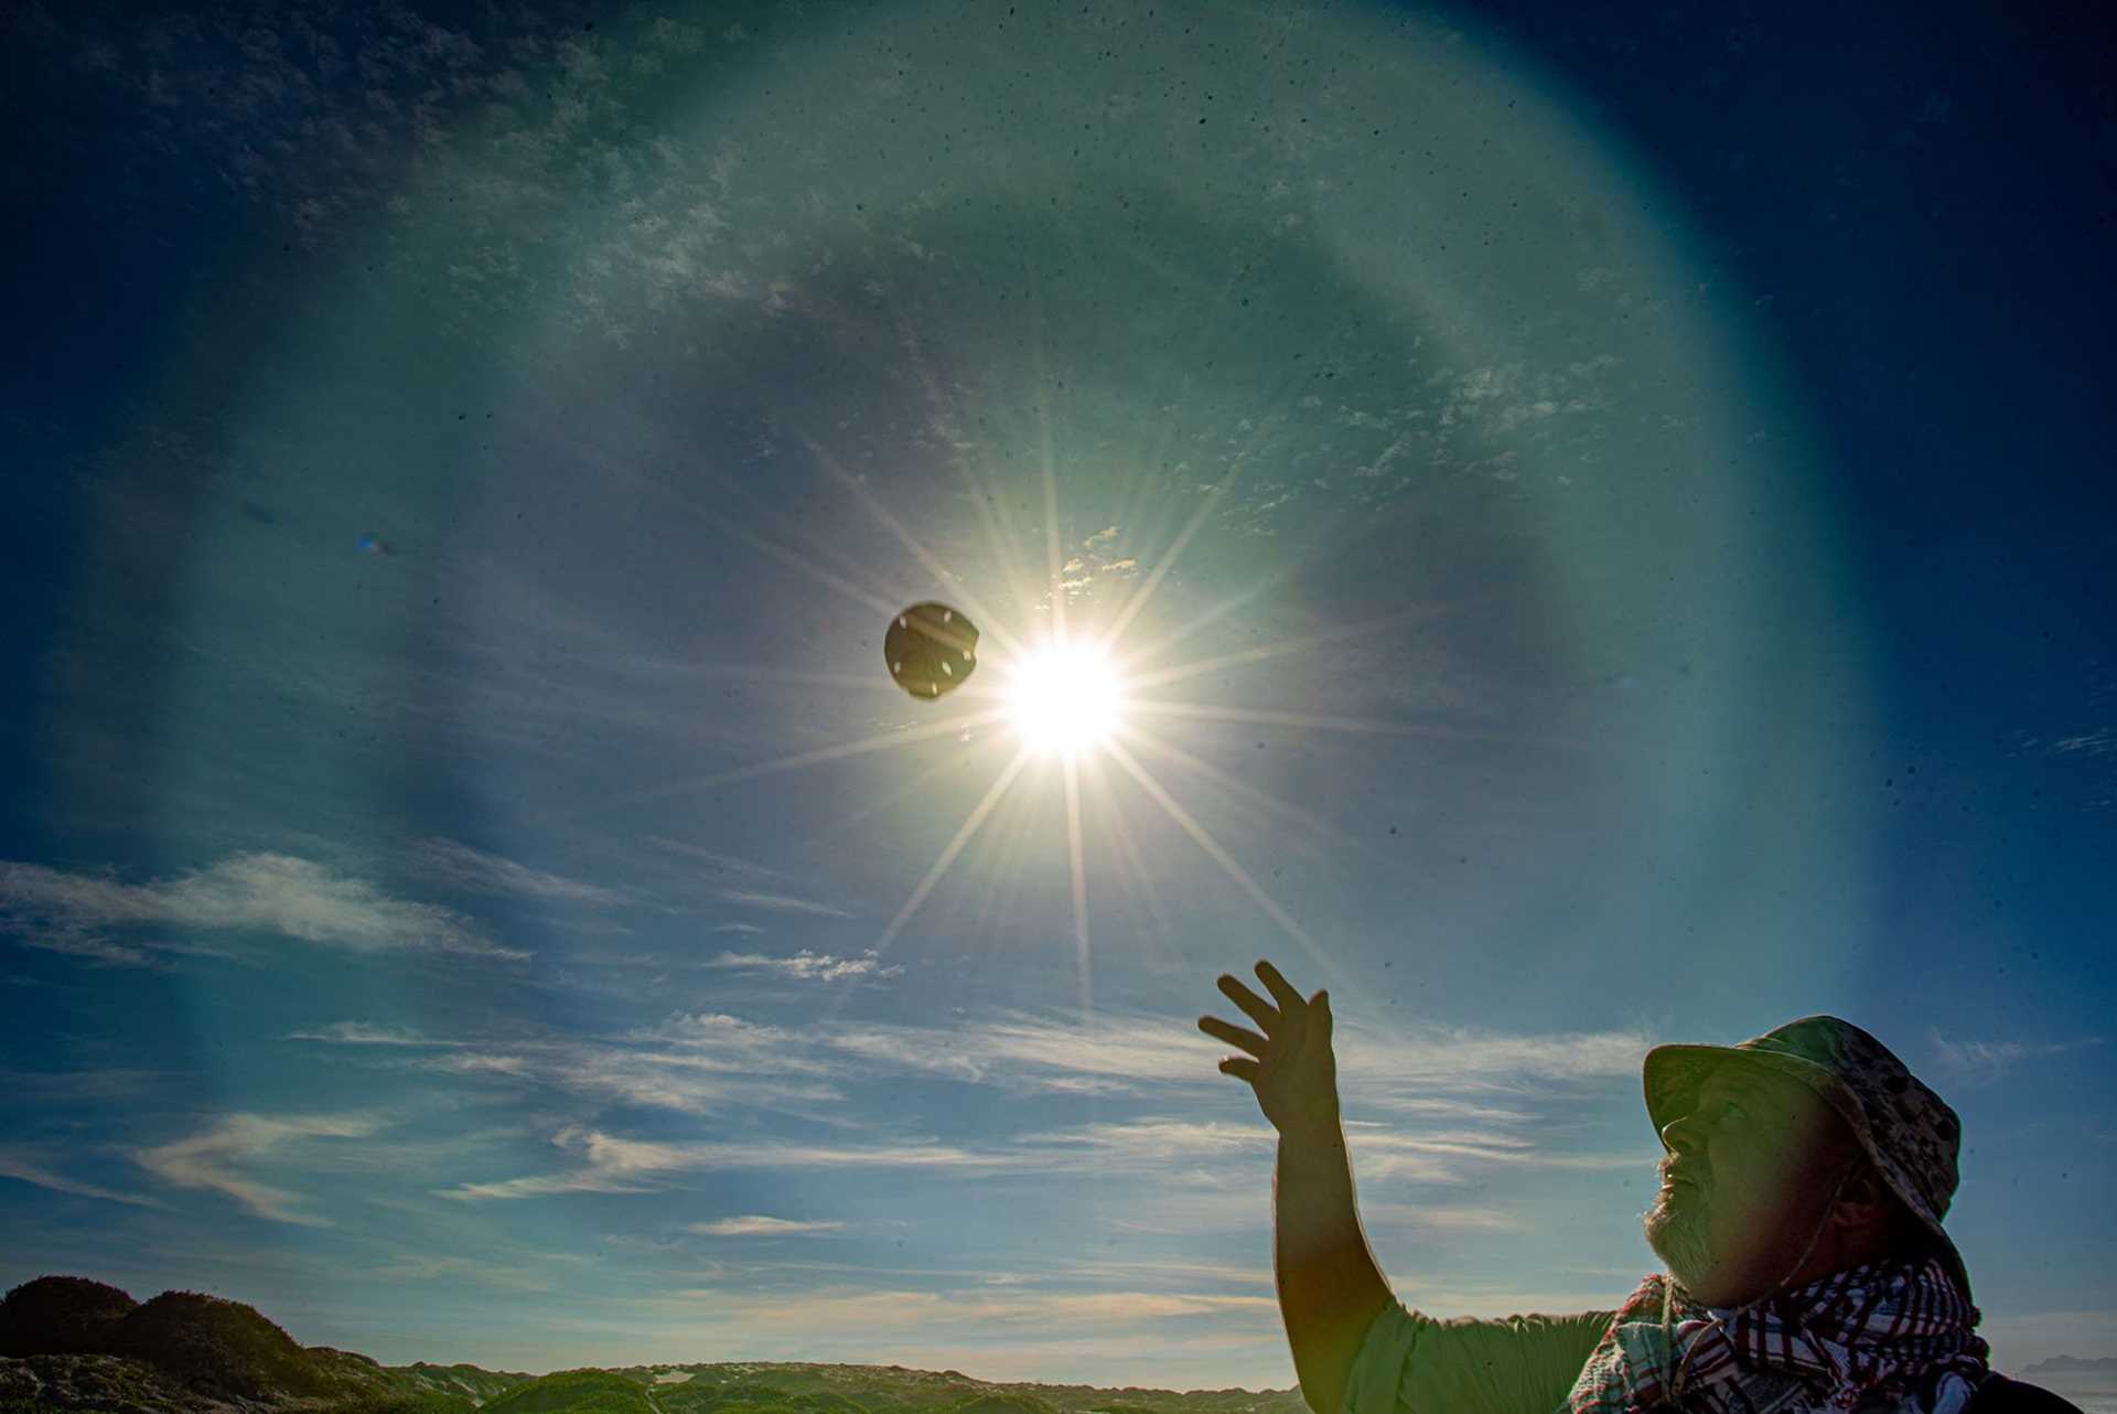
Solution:
[{"label": "green shirt sleeve on the man's raised arm", "polygon": [[1353,1359],[1342,1414],[1554,1414],[1613,1315],[1433,1321],[1391,1302]]}]

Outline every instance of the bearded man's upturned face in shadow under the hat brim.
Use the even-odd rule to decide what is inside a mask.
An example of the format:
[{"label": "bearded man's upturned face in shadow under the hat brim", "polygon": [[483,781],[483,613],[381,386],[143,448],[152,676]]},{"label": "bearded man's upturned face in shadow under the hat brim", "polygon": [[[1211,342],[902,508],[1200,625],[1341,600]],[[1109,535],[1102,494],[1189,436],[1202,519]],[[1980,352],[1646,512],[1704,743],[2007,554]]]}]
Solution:
[{"label": "bearded man's upturned face in shadow under the hat brim", "polygon": [[1806,1086],[1727,1063],[1706,1075],[1691,1113],[1662,1130],[1662,1147],[1647,1245],[1694,1298],[1738,1306],[1802,1262],[1852,1141]]}]

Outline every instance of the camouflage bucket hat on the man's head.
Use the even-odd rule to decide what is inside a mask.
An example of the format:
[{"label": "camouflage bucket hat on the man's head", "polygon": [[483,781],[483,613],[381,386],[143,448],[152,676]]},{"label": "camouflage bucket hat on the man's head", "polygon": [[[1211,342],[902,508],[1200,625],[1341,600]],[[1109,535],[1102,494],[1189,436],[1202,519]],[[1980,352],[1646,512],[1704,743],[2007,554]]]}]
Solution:
[{"label": "camouflage bucket hat on the man's head", "polygon": [[1882,1181],[1926,1226],[1962,1300],[1971,1295],[1962,1255],[1941,1230],[1956,1194],[1962,1122],[1888,1046],[1835,1016],[1804,1016],[1734,1046],[1655,1046],[1641,1080],[1647,1118],[1660,1135],[1691,1111],[1698,1086],[1717,1065],[1738,1060],[1795,1080],[1852,1128]]}]

